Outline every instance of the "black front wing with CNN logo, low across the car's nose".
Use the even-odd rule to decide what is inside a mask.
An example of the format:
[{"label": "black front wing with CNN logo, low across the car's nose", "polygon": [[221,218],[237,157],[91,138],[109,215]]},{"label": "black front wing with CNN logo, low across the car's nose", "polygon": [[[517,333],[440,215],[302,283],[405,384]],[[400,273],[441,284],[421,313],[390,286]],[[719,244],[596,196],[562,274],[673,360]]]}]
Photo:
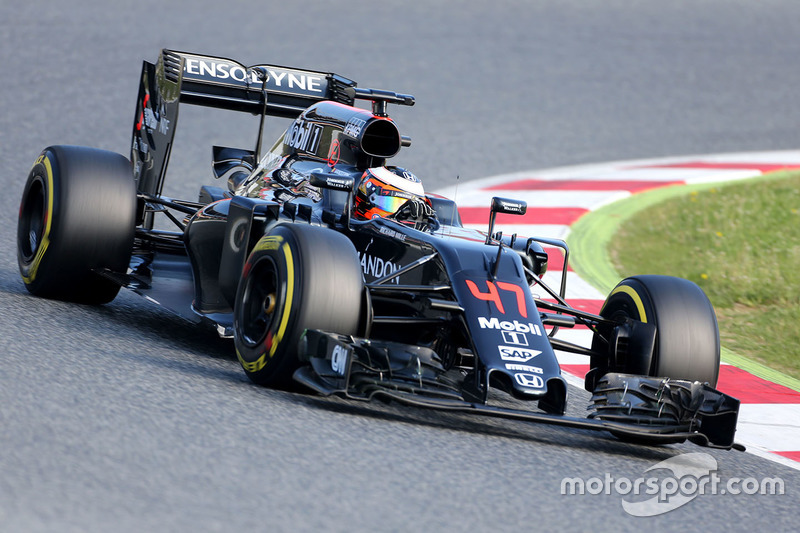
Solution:
[{"label": "black front wing with CNN logo, low across the car's nose", "polygon": [[592,397],[589,418],[510,409],[477,401],[474,376],[447,371],[427,348],[309,330],[299,346],[306,363],[297,382],[319,394],[414,407],[607,431],[624,440],[744,450],[734,442],[739,400],[707,384],[606,374]]}]

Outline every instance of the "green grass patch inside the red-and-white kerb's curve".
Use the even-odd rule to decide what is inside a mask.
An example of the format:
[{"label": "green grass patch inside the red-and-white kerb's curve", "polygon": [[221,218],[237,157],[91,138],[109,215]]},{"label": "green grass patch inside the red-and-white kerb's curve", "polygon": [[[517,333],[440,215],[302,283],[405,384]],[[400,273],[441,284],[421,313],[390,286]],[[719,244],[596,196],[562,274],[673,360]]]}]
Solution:
[{"label": "green grass patch inside the red-and-white kerb's curve", "polygon": [[726,348],[800,378],[800,173],[660,196],[673,197],[627,216],[607,240],[613,268],[694,281]]}]

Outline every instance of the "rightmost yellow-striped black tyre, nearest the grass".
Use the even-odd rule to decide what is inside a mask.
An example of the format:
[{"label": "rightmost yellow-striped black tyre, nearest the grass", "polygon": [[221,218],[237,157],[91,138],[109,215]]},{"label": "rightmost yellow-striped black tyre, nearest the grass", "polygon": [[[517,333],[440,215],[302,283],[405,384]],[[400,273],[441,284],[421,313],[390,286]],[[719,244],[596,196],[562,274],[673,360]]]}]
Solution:
[{"label": "rightmost yellow-striped black tyre, nearest the grass", "polygon": [[[716,386],[719,376],[719,328],[714,308],[703,290],[691,281],[671,276],[635,276],[621,281],[603,304],[600,315],[632,318],[656,328],[649,365],[629,361],[626,367],[649,367],[651,377],[700,381]],[[597,337],[594,349],[601,349]],[[592,367],[595,367],[595,361]]]}]

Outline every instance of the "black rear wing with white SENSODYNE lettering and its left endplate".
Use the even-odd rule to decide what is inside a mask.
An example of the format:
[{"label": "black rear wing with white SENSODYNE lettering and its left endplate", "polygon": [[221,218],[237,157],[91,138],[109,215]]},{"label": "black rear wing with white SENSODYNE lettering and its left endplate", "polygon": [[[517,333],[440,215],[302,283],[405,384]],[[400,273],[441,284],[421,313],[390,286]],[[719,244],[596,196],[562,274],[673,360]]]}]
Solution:
[{"label": "black rear wing with white SENSODYNE lettering and its left endplate", "polygon": [[131,142],[137,189],[161,193],[180,103],[294,118],[322,100],[353,105],[355,87],[330,72],[162,50],[156,64],[142,65]]}]

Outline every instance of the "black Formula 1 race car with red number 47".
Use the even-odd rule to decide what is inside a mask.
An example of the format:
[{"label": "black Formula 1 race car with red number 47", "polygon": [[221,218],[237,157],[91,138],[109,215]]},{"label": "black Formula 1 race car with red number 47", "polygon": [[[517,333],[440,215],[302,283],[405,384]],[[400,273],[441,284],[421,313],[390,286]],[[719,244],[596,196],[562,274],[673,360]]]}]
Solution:
[{"label": "black Formula 1 race car with red number 47", "polygon": [[[260,118],[255,150],[213,148],[227,187],[204,186],[196,202],[162,195],[180,103]],[[465,228],[453,201],[386,166],[411,144],[390,104],[414,97],[163,50],[143,65],[130,160],[75,146],[36,160],[18,226],[26,288],[92,304],[131,289],[232,337],[262,385],[741,449],[739,402],[713,388],[719,333],[697,285],[636,276],[599,315],[571,307],[565,242],[494,231],[496,214],[524,214],[524,202],[492,198],[487,231]],[[262,153],[267,116],[291,123]],[[558,248],[556,291],[542,276]],[[591,346],[555,336],[575,327]],[[591,363],[588,418],[564,416],[555,350]]]}]

